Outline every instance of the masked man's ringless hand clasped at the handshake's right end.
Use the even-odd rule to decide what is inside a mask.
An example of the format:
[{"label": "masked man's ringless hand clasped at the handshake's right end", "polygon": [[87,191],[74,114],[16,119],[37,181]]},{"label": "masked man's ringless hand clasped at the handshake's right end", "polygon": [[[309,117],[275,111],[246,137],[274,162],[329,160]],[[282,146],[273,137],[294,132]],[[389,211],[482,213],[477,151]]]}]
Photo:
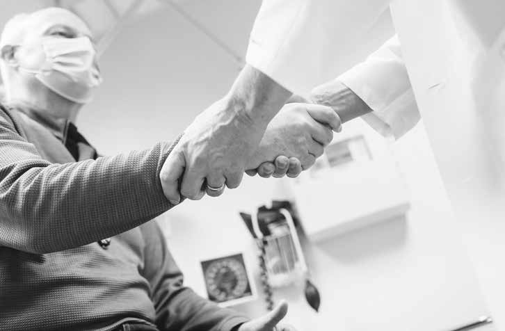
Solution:
[{"label": "masked man's ringless hand clasped at the handshake's right end", "polygon": [[279,155],[295,157],[305,170],[323,154],[341,122],[332,108],[316,104],[287,104],[268,124],[261,143],[248,162],[256,169]]}]

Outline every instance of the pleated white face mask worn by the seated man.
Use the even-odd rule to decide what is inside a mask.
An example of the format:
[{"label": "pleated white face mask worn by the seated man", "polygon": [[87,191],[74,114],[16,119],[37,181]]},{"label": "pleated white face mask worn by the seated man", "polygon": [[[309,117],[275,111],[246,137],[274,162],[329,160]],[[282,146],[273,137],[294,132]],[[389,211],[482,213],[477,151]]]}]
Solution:
[{"label": "pleated white face mask worn by the seated man", "polygon": [[45,58],[19,65],[19,69],[35,74],[42,84],[66,99],[79,104],[90,102],[93,88],[102,83],[90,39],[46,37],[41,45]]}]

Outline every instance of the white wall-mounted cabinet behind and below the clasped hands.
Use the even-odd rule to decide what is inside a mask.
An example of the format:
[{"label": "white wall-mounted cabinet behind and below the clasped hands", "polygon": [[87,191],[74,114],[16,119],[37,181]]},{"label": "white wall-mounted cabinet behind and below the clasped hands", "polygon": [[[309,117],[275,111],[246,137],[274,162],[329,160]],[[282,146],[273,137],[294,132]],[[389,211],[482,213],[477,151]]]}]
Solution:
[{"label": "white wall-mounted cabinet behind and below the clasped hands", "polygon": [[344,124],[316,165],[291,185],[311,241],[401,216],[410,207],[390,140],[358,120]]}]

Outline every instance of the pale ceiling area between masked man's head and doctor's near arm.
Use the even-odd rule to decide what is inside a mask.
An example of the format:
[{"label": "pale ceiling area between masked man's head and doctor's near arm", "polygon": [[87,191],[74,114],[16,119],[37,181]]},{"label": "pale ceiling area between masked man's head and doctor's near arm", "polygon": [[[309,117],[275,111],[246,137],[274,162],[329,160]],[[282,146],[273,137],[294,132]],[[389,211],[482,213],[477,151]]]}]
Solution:
[{"label": "pale ceiling area between masked man's head and doctor's near arm", "polygon": [[[242,54],[258,6],[259,1],[189,1],[187,8]],[[104,85],[80,120],[92,142],[102,137],[99,147],[106,154],[175,138],[224,95],[239,72],[230,56],[168,7],[122,31],[101,67]],[[108,129],[114,133],[106,134]]]}]

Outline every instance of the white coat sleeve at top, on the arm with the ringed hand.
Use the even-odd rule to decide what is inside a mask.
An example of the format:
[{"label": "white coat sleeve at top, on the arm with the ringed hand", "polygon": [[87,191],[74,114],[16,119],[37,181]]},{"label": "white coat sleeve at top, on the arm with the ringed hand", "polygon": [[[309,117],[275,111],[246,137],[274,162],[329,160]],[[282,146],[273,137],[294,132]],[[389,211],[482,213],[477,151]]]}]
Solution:
[{"label": "white coat sleeve at top, on the arm with the ringed hand", "polygon": [[291,92],[342,73],[339,61],[389,7],[390,0],[264,0],[250,34],[246,61]]}]

